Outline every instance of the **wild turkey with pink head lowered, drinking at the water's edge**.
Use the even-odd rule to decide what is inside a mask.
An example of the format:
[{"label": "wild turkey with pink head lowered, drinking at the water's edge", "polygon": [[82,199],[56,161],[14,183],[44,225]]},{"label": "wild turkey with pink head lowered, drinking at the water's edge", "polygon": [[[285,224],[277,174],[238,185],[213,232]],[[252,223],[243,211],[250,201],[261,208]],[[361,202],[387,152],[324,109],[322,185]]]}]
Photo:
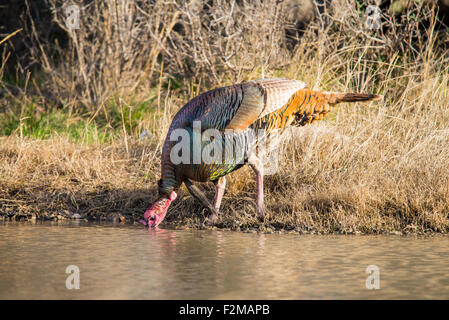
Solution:
[{"label": "wild turkey with pink head lowered, drinking at the water's edge", "polygon": [[[211,211],[210,221],[215,221],[226,186],[225,176],[246,163],[256,173],[257,214],[262,217],[264,172],[261,157],[272,150],[260,147],[268,141],[279,140],[284,129],[291,125],[302,126],[322,119],[339,102],[377,98],[379,96],[374,94],[313,91],[301,81],[287,79],[259,79],[239,83],[216,88],[193,98],[179,110],[170,125],[162,150],[159,197],[146,210],[144,220],[141,221],[149,227],[158,226],[183,182],[189,192]],[[204,135],[208,129],[216,129],[215,132],[220,136],[206,139],[203,136],[199,142],[194,138],[194,133]],[[263,135],[248,139],[248,133],[255,130],[262,131]],[[181,144],[179,137],[187,138],[187,144],[185,140]],[[276,146],[273,143],[271,145]],[[206,148],[213,149],[211,146],[224,150],[221,156],[214,158],[215,162],[205,161],[201,157]],[[187,150],[188,154],[184,152],[182,155],[184,161],[174,161],[174,156],[179,156],[178,149]],[[264,149],[265,153],[260,154],[258,149]],[[226,159],[223,154],[227,154]],[[215,184],[213,204],[191,180],[212,181]]]}]

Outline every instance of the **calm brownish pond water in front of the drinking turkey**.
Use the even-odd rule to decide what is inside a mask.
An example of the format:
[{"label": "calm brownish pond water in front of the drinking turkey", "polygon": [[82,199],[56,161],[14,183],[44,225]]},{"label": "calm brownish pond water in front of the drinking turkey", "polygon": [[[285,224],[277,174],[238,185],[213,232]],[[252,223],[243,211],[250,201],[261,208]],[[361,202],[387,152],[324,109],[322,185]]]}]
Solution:
[{"label": "calm brownish pond water in front of the drinking turkey", "polygon": [[0,299],[428,298],[449,298],[446,236],[0,223]]}]

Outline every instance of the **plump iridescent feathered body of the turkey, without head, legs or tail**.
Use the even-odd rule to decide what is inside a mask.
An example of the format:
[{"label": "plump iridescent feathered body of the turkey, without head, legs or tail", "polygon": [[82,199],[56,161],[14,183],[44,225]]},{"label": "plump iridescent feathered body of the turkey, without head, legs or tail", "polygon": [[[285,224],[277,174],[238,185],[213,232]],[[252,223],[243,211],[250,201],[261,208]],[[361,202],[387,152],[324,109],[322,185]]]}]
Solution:
[{"label": "plump iridescent feathered body of the turkey, without head, legs or tail", "polygon": [[[295,117],[291,110],[284,110],[283,115],[276,111],[286,105],[295,92],[305,87],[303,82],[297,80],[262,79],[217,88],[189,101],[173,118],[165,139],[162,150],[161,191],[169,194],[185,179],[214,182],[247,163],[251,147],[257,144],[253,139],[252,145],[245,145],[248,137],[254,137],[254,133],[261,130],[274,134],[277,129],[285,128],[293,122]],[[303,100],[311,98],[310,92],[304,94],[307,97],[303,97]],[[201,135],[208,129],[216,129],[223,134],[222,139],[212,142],[221,145],[221,161],[193,163],[194,121],[200,124]],[[172,147],[179,142],[171,140],[171,134],[176,129],[186,130],[190,135],[189,163],[174,164],[171,160]],[[231,144],[225,143],[225,130],[230,135]],[[202,154],[211,142],[201,142]],[[209,147],[213,148],[210,145]],[[232,149],[232,161],[224,161],[229,149]]]}]

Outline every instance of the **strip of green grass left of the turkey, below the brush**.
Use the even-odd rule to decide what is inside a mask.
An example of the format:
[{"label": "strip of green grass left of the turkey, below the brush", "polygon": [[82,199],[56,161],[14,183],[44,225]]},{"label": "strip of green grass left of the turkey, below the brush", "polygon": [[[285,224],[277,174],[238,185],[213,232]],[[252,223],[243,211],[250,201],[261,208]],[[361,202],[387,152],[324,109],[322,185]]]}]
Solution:
[{"label": "strip of green grass left of the turkey, below the brush", "polygon": [[17,134],[34,139],[49,139],[66,136],[72,142],[106,143],[118,138],[126,131],[129,136],[138,137],[142,122],[151,119],[157,110],[156,96],[144,101],[131,98],[129,103],[112,99],[105,104],[105,110],[96,115],[89,112],[70,114],[69,108],[43,108],[33,98],[26,103],[12,101],[0,110],[0,136]]}]

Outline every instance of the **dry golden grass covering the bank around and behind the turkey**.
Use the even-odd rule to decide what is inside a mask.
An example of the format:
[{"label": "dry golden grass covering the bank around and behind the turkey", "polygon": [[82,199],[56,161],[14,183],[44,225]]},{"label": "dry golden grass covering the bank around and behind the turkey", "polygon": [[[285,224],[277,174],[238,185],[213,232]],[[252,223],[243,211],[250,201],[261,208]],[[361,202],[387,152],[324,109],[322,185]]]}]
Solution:
[{"label": "dry golden grass covering the bank around and behind the turkey", "polygon": [[[257,6],[266,3],[260,2]],[[188,5],[191,10],[195,9],[194,1],[188,2]],[[132,97],[134,94],[139,97],[152,86],[151,92],[155,94],[153,103],[158,111],[136,120],[134,130],[126,129],[123,121],[121,133],[107,142],[98,139],[91,143],[73,141],[64,133],[53,134],[45,140],[30,139],[21,136],[19,129],[15,134],[1,137],[0,213],[16,218],[33,214],[38,217],[69,217],[74,213],[87,218],[118,219],[121,215],[127,219],[140,218],[156,197],[160,147],[170,117],[198,90],[205,91],[216,85],[258,78],[263,69],[265,76],[301,79],[311,87],[323,90],[380,93],[385,99],[368,105],[345,104],[320,123],[292,129],[292,138],[282,152],[279,172],[267,176],[265,180],[267,216],[264,223],[255,218],[255,181],[252,172],[243,168],[231,174],[219,227],[321,233],[447,233],[449,73],[448,55],[444,48],[448,36],[436,30],[434,11],[423,7],[415,7],[415,11],[405,13],[400,21],[397,17],[385,17],[384,29],[366,31],[363,17],[352,9],[353,6],[345,1],[339,1],[338,5],[343,7],[336,5],[333,14],[319,16],[290,53],[287,53],[287,47],[280,39],[279,24],[276,23],[272,25],[276,32],[271,32],[262,24],[261,29],[255,28],[258,30],[257,35],[251,34],[254,39],[260,39],[254,40],[255,43],[267,50],[260,53],[257,45],[250,48],[244,41],[236,40],[233,40],[233,44],[230,39],[226,40],[226,36],[217,36],[220,34],[217,29],[210,27],[205,27],[208,30],[202,30],[202,27],[195,29],[199,38],[189,33],[193,32],[192,29],[185,31],[189,37],[176,40],[180,34],[167,31],[172,25],[168,23],[171,20],[164,22],[166,31],[156,28],[154,30],[159,30],[159,33],[151,35],[153,38],[162,37],[161,41],[166,36],[166,43],[162,47],[165,50],[164,57],[171,59],[169,53],[176,51],[170,41],[174,41],[173,44],[185,41],[190,46],[186,48],[194,48],[189,52],[199,60],[192,63],[201,72],[189,78],[188,72],[184,70],[183,81],[186,84],[182,88],[164,88],[163,84],[176,76],[174,70],[177,66],[172,64],[167,67],[166,63],[170,59],[163,60],[159,54],[143,52],[142,57],[138,58],[141,61],[134,63],[136,70],[153,70],[154,74],[151,79],[146,78],[148,83],[144,86],[139,84],[140,87],[133,87],[137,93],[133,93]],[[105,6],[105,10],[109,10],[107,4]],[[228,10],[224,4],[218,8]],[[179,15],[188,16],[186,8],[173,7],[171,11],[160,11],[161,19],[174,17],[178,12],[175,9],[179,10]],[[281,13],[274,9],[267,12],[281,17]],[[419,21],[413,20],[416,13],[423,21],[430,21],[425,29]],[[233,16],[228,15],[227,19],[230,17]],[[235,28],[246,26],[251,17],[254,18],[248,14],[245,18],[248,20],[240,25],[234,20],[229,20],[231,23],[222,18],[220,23],[223,25],[217,28],[228,28],[227,31],[232,34]],[[401,23],[407,19],[411,19],[410,24]],[[195,22],[190,24],[194,25]],[[262,27],[268,30],[263,31]],[[408,30],[407,37],[398,36],[401,28]],[[101,34],[98,30],[92,32]],[[212,37],[214,34],[215,38]],[[104,32],[103,36],[106,35]],[[202,46],[201,37],[212,39]],[[217,44],[214,41],[224,43]],[[214,55],[217,48],[226,43],[229,50],[237,50],[228,66],[220,60],[221,55]],[[277,47],[270,47],[274,43]],[[130,48],[134,48],[133,44]],[[170,51],[172,49],[174,51]],[[102,49],[97,50],[103,52]],[[153,49],[150,47],[149,50]],[[275,55],[269,56],[267,52]],[[183,53],[179,50],[177,54],[188,58],[187,51]],[[76,57],[81,59],[79,54]],[[122,90],[126,87],[123,83],[111,84],[109,89],[105,89],[106,80],[117,75],[107,74],[109,62],[107,59],[103,61],[101,55],[99,57],[95,61],[105,63],[105,71],[94,72],[89,81],[95,82],[95,77],[101,77],[97,79],[98,87],[92,90],[108,94],[101,98],[100,106],[104,107],[101,112],[97,109],[99,105],[90,105],[91,119],[100,117],[103,112],[108,114],[107,103],[111,97],[115,102],[118,101],[122,110],[125,105],[133,107],[129,93],[127,95]],[[151,57],[157,58],[151,60]],[[214,57],[214,60],[208,57]],[[266,63],[261,63],[259,57],[266,57]],[[173,58],[178,59],[175,56]],[[249,62],[239,60],[243,58],[252,64],[248,66]],[[83,59],[89,62],[91,56],[86,53]],[[149,69],[141,64],[145,59],[152,61]],[[166,61],[165,67],[162,61]],[[180,65],[183,65],[183,61],[180,60]],[[116,62],[110,63],[114,65]],[[132,65],[127,65],[126,61],[124,63],[130,71],[119,73],[122,75],[120,81],[130,81],[132,78],[125,74],[136,70]],[[238,70],[234,70],[232,65],[238,66]],[[76,66],[82,67],[82,63]],[[218,66],[224,69],[214,69]],[[63,76],[71,74],[64,73],[64,68],[70,70],[68,64],[50,67],[53,71],[59,70]],[[135,72],[136,79],[141,75]],[[73,85],[76,81],[83,81],[80,79],[74,79],[73,82],[66,79],[63,82]],[[208,82],[214,85],[210,86]],[[73,101],[79,102],[77,95],[86,90],[87,83],[79,87],[80,91],[70,91],[72,89],[68,90],[66,86],[55,85],[60,90],[58,92],[68,90]],[[113,88],[122,89],[115,91]],[[96,95],[92,93],[91,97]],[[123,98],[114,98],[117,95]],[[26,98],[29,99],[23,97]],[[88,99],[82,104],[89,104]],[[73,109],[75,105],[66,107]],[[138,136],[144,129],[153,135],[151,139],[141,141]],[[205,188],[212,197],[212,186]],[[170,208],[166,221],[199,227],[207,214],[184,191]]]}]

